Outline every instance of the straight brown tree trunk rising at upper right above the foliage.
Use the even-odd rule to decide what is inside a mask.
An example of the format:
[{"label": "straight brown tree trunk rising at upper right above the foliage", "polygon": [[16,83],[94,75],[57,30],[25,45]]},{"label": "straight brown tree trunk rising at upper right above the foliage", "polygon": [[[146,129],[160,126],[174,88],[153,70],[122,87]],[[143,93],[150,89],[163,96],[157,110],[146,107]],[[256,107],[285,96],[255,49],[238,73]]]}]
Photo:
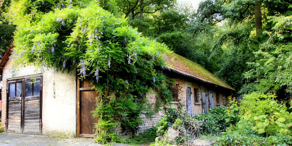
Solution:
[{"label": "straight brown tree trunk rising at upper right above the foliage", "polygon": [[256,26],[256,35],[260,36],[262,34],[262,13],[260,2],[255,0],[254,2],[254,19],[255,19],[255,26]]}]

